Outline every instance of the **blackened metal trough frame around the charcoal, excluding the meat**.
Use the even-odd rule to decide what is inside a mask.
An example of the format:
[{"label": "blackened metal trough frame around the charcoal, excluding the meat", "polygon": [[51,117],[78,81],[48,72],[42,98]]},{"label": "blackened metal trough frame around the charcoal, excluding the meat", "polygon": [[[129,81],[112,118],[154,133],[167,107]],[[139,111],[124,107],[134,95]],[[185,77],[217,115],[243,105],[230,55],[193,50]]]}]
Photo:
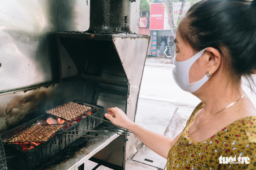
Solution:
[{"label": "blackened metal trough frame around the charcoal, excluding the meat", "polygon": [[[92,115],[103,119],[104,107],[101,107],[98,105],[92,105],[90,103],[86,103],[81,100],[73,100],[73,102],[78,102],[78,103],[92,106],[97,110]],[[28,125],[34,124],[39,120],[46,119],[48,116],[49,114],[43,114],[42,116],[34,120],[24,123],[11,130],[5,131],[4,133],[1,134],[1,136],[8,137],[10,136],[10,132],[12,132],[11,134],[13,134],[13,132],[16,129],[24,128],[24,126],[28,127]],[[66,130],[92,130],[94,127],[96,127],[100,123],[102,123],[102,121],[92,119],[90,117],[86,117],[85,119],[81,120],[80,122],[77,122],[73,126],[68,127]],[[65,132],[66,130],[63,130],[59,133],[59,135],[55,135],[55,137],[52,137],[52,140],[42,143],[37,147],[31,150],[28,150],[27,152],[23,151],[21,149],[21,146],[19,145],[4,144],[4,148],[6,150],[6,157],[13,157],[8,159],[8,161],[9,162],[15,161],[17,163],[16,166],[18,166],[21,170],[35,170],[37,167],[40,167],[45,162],[48,162],[49,160],[51,160],[52,157],[54,157],[57,153],[64,150],[66,147],[68,147],[71,143],[73,143],[79,138],[79,136],[61,135],[63,133],[66,133]],[[81,134],[81,133],[82,132],[74,132],[73,134]]]}]

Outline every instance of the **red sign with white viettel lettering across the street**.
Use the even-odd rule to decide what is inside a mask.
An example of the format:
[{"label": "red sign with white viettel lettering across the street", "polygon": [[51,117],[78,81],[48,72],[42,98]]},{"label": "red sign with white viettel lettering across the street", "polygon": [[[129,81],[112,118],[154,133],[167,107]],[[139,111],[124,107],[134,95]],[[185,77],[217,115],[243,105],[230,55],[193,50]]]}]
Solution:
[{"label": "red sign with white viettel lettering across the street", "polygon": [[164,4],[150,4],[150,30],[163,30]]}]

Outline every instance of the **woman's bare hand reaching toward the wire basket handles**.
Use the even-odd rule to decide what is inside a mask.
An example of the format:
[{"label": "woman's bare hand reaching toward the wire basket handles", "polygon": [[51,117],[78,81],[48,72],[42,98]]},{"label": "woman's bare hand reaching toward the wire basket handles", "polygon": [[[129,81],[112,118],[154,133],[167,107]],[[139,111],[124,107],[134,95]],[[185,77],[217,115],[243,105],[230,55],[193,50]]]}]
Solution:
[{"label": "woman's bare hand reaching toward the wire basket handles", "polygon": [[108,113],[105,114],[105,117],[110,120],[114,125],[118,127],[124,127],[129,130],[129,127],[132,125],[132,121],[126,116],[123,110],[118,107],[112,107],[107,109]]}]

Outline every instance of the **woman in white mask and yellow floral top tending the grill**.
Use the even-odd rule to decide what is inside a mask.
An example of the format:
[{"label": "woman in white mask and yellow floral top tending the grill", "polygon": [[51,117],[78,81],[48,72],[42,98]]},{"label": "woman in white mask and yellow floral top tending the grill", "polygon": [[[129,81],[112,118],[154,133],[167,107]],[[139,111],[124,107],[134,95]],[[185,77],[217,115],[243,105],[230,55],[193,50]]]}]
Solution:
[{"label": "woman in white mask and yellow floral top tending the grill", "polygon": [[173,78],[202,101],[184,130],[174,139],[153,133],[117,107],[105,117],[165,157],[167,169],[256,169],[256,108],[241,85],[256,70],[255,0],[194,4],[175,43]]}]

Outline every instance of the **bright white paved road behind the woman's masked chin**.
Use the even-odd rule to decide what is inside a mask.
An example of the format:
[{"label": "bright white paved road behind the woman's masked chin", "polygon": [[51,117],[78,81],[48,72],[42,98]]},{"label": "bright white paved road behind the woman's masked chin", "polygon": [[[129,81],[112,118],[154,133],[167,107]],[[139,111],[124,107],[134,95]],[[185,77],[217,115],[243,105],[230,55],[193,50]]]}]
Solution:
[{"label": "bright white paved road behind the woman's masked chin", "polygon": [[196,106],[200,100],[176,85],[172,70],[173,67],[145,66],[139,97],[169,101],[175,105]]}]

